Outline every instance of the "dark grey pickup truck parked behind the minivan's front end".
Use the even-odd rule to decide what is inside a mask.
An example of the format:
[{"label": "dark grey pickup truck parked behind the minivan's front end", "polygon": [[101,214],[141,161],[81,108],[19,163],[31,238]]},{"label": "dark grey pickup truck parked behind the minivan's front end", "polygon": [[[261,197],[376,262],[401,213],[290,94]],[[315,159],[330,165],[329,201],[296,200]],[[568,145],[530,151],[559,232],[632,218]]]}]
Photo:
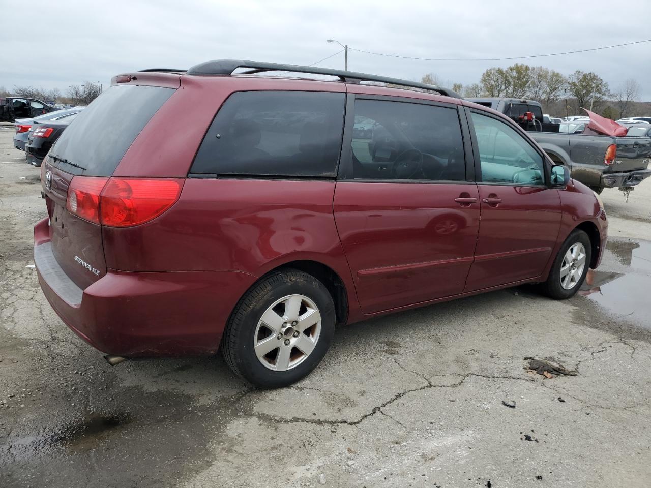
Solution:
[{"label": "dark grey pickup truck parked behind the minivan's front end", "polygon": [[[543,120],[542,106],[534,100],[517,98],[467,98],[509,116],[529,132],[557,164],[570,169],[572,178],[596,193],[604,188],[632,189],[651,176],[651,137],[615,137],[559,133],[559,124]],[[526,120],[526,114],[533,120]]]}]

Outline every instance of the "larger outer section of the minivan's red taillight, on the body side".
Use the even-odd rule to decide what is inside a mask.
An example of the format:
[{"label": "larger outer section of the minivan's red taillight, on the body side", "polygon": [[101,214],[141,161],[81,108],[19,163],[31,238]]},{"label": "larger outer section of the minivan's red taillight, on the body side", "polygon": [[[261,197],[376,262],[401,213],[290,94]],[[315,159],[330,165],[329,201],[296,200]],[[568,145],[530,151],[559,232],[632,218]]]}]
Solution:
[{"label": "larger outer section of the minivan's red taillight, on the body side", "polygon": [[111,178],[102,191],[102,225],[142,224],[170,208],[181,193],[183,180]]}]

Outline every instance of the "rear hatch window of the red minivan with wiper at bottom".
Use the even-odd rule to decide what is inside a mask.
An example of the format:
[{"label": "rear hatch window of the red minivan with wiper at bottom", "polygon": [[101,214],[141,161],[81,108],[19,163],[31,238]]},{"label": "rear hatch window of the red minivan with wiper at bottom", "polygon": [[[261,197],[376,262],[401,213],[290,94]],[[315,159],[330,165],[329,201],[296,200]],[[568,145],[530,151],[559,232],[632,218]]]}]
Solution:
[{"label": "rear hatch window of the red minivan with wiper at bottom", "polygon": [[174,88],[111,87],[66,128],[51,155],[53,164],[72,174],[111,176],[145,124],[174,93]]}]

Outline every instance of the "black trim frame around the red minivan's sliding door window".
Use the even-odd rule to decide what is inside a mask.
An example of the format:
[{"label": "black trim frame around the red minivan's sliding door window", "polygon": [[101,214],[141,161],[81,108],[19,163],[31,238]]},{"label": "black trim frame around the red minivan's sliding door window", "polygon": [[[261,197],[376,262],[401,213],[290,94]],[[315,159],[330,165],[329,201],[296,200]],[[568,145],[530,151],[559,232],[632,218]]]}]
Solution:
[{"label": "black trim frame around the red minivan's sliding door window", "polygon": [[[355,101],[356,100],[378,100],[380,102],[400,102],[416,103],[418,105],[432,105],[434,107],[445,107],[456,111],[461,137],[464,145],[465,159],[465,180],[395,180],[393,178],[352,178],[353,175],[353,125],[355,124]],[[337,172],[338,183],[432,183],[432,184],[465,184],[475,183],[475,162],[473,146],[471,141],[471,131],[464,120],[465,114],[462,111],[462,105],[457,103],[438,102],[434,100],[425,100],[421,98],[408,98],[403,96],[388,95],[371,95],[361,93],[348,93],[346,95],[346,116],[344,117],[344,137],[340,148],[339,171]],[[344,150],[346,148],[346,150]],[[348,150],[350,148],[350,150]]]}]

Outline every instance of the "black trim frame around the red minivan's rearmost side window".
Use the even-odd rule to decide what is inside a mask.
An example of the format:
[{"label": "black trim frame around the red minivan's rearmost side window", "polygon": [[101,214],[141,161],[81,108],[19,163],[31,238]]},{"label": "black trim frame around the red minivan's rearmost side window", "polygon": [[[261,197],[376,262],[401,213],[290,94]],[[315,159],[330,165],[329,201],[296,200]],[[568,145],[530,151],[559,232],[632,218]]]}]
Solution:
[{"label": "black trim frame around the red minivan's rearmost side window", "polygon": [[197,155],[199,154],[199,150],[201,149],[201,144],[203,144],[204,139],[208,135],[208,131],[210,131],[210,127],[212,126],[213,122],[215,121],[215,118],[217,118],[217,115],[219,115],[219,111],[224,107],[226,102],[230,99],[231,96],[233,96],[236,93],[242,93],[242,92],[309,92],[309,93],[341,93],[344,95],[344,113],[343,113],[343,128],[342,128],[342,137],[340,141],[343,141],[346,137],[346,114],[347,112],[347,107],[348,107],[348,95],[345,91],[343,90],[304,90],[304,89],[299,89],[297,90],[296,88],[293,89],[283,89],[279,90],[277,88],[260,88],[256,90],[233,90],[230,92],[226,98],[224,98],[221,103],[219,103],[219,107],[215,110],[215,115],[212,116],[212,119],[210,119],[210,124],[206,126],[206,130],[204,131],[204,135],[201,138],[201,142],[199,142],[199,146],[197,146],[197,150],[195,151],[194,156],[192,157],[192,161],[187,169],[187,178],[192,178],[193,180],[201,180],[201,179],[207,179],[207,180],[280,180],[280,181],[305,181],[305,180],[312,180],[312,181],[328,181],[328,180],[337,180],[337,175],[339,174],[339,168],[341,165],[341,154],[342,154],[342,143],[340,142],[339,144],[339,152],[338,152],[338,157],[337,157],[337,165],[335,166],[335,174],[334,176],[301,176],[301,175],[292,175],[292,176],[284,176],[284,175],[278,175],[278,174],[232,174],[232,173],[199,173],[199,172],[193,172],[192,167],[195,164],[195,159],[197,159]]}]

